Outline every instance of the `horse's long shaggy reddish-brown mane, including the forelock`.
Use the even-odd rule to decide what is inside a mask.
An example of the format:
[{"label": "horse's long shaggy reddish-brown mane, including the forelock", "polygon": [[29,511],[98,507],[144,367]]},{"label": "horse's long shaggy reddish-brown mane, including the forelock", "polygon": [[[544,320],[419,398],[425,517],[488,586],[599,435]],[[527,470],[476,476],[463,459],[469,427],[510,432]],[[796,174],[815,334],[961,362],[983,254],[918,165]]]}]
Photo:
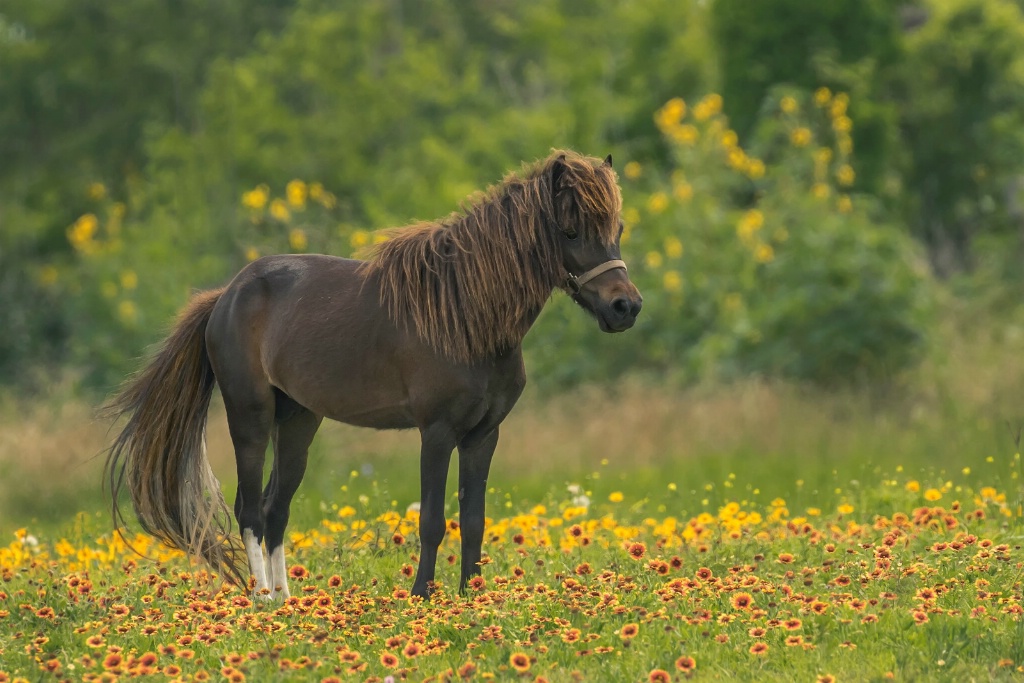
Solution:
[{"label": "horse's long shaggy reddish-brown mane, including the forelock", "polygon": [[611,244],[621,208],[609,164],[559,151],[462,211],[390,230],[362,271],[379,275],[394,321],[467,362],[522,341],[564,276],[559,230]]}]

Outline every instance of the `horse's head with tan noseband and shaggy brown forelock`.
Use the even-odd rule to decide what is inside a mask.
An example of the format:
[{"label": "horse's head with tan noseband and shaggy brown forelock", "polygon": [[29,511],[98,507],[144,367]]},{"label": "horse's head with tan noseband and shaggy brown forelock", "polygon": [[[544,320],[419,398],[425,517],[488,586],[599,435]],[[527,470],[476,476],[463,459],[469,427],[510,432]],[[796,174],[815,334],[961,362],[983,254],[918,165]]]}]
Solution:
[{"label": "horse's head with tan noseband and shaggy brown forelock", "polygon": [[558,155],[550,169],[565,271],[562,289],[597,318],[602,331],[629,330],[643,297],[620,254],[622,197],[611,155],[604,162]]}]

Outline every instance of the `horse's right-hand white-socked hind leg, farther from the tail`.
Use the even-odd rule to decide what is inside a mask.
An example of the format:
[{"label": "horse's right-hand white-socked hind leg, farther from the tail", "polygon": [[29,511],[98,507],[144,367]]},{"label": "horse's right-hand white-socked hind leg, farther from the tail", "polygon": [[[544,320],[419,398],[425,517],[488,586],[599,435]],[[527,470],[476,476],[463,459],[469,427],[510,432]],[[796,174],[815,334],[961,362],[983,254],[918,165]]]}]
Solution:
[{"label": "horse's right-hand white-socked hind leg, farther from the tail", "polygon": [[263,510],[266,550],[270,556],[270,589],[280,600],[287,600],[291,595],[285,563],[285,528],[288,526],[289,507],[305,474],[309,444],[322,421],[321,416],[313,415],[290,398],[283,399],[283,395],[279,394],[273,472],[263,492]]}]

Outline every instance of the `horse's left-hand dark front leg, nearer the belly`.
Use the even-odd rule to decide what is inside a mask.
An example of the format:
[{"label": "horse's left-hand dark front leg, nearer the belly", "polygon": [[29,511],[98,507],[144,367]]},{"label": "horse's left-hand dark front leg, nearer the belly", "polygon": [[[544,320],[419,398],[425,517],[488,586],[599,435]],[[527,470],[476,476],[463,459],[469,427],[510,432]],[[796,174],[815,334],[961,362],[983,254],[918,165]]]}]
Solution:
[{"label": "horse's left-hand dark front leg, nearer the belly", "polygon": [[437,564],[437,547],[444,539],[444,485],[455,449],[455,437],[446,425],[421,430],[420,446],[420,566],[413,582],[413,595],[430,597]]}]

